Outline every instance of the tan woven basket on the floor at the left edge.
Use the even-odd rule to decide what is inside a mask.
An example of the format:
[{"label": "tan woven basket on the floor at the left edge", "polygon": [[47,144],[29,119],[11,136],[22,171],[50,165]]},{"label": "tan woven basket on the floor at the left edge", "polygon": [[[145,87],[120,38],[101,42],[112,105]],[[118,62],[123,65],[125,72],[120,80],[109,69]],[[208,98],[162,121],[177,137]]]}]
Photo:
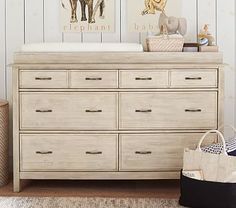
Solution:
[{"label": "tan woven basket on the floor at the left edge", "polygon": [[0,100],[0,186],[8,183],[8,103]]}]

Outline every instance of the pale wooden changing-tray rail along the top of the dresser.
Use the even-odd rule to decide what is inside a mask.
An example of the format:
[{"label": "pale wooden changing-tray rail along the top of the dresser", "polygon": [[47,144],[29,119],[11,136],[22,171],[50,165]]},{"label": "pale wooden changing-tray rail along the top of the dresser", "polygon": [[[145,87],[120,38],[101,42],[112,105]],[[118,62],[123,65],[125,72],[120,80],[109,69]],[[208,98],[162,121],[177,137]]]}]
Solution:
[{"label": "pale wooden changing-tray rail along the top of the dresser", "polygon": [[222,53],[208,52],[79,52],[14,55],[14,64],[223,64]]}]

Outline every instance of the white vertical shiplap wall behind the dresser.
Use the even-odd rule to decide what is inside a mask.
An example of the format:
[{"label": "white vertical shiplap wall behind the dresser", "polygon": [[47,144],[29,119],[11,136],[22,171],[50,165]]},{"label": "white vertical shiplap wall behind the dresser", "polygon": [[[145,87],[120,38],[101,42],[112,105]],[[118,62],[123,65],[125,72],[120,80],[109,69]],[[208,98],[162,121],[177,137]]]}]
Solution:
[{"label": "white vertical shiplap wall behind the dresser", "polygon": [[[62,33],[60,0],[0,0],[0,98],[11,102],[11,71],[14,51],[33,42],[137,42],[146,33],[129,33],[126,28],[126,2],[115,0],[114,33]],[[182,16],[188,20],[186,42],[195,42],[202,26],[210,24],[224,52],[226,67],[225,120],[235,115],[235,0],[182,0]],[[171,14],[170,14],[171,15]]]}]

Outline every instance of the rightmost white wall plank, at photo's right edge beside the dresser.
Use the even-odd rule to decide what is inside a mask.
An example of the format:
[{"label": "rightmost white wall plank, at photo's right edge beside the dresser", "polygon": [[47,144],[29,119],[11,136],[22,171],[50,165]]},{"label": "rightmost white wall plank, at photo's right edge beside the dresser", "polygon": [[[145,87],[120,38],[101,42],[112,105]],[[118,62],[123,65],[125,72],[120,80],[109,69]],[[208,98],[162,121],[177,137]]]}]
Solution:
[{"label": "rightmost white wall plank, at photo's right edge beside the dresser", "polygon": [[[217,2],[217,36],[218,45],[224,54],[225,66],[225,121],[228,124],[235,123],[235,0]],[[228,132],[226,129],[227,133]]]}]

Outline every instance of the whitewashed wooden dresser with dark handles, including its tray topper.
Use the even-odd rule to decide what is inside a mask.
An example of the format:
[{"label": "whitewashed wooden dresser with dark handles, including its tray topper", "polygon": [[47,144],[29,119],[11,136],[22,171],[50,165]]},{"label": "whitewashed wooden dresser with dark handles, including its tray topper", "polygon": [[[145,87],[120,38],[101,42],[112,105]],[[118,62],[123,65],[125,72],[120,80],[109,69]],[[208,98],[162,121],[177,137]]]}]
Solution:
[{"label": "whitewashed wooden dresser with dark handles, including its tray topper", "polygon": [[223,84],[220,53],[15,54],[14,191],[179,178],[184,147],[223,123]]}]

